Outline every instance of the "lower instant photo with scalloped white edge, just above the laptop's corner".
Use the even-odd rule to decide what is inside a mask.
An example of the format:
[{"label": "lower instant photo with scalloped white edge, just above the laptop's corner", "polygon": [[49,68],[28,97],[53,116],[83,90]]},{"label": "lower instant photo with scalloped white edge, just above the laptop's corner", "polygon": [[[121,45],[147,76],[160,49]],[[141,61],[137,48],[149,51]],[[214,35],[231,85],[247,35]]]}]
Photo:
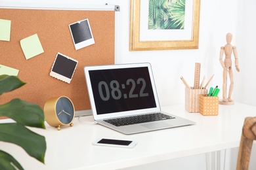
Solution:
[{"label": "lower instant photo with scalloped white edge, just above the laptop's corner", "polygon": [[58,53],[53,63],[50,75],[54,78],[70,83],[75,73],[78,61]]}]

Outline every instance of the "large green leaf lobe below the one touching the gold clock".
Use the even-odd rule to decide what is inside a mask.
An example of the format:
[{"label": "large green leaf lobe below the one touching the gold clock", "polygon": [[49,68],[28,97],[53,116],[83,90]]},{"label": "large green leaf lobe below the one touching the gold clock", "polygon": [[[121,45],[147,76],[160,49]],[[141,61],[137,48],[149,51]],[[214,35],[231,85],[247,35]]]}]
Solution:
[{"label": "large green leaf lobe below the one touching the gold clock", "polygon": [[17,144],[30,156],[45,163],[45,137],[34,133],[22,124],[0,124],[0,141]]}]

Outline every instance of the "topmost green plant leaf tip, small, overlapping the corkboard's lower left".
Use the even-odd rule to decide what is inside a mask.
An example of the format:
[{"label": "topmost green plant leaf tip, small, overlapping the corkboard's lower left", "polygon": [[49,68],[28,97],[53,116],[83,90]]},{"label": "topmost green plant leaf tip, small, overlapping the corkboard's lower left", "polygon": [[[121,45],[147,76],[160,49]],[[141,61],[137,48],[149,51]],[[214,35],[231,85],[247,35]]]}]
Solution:
[{"label": "topmost green plant leaf tip, small, overlapping the corkboard's lower left", "polygon": [[17,76],[0,75],[0,95],[20,88],[24,84],[26,82],[22,82]]}]

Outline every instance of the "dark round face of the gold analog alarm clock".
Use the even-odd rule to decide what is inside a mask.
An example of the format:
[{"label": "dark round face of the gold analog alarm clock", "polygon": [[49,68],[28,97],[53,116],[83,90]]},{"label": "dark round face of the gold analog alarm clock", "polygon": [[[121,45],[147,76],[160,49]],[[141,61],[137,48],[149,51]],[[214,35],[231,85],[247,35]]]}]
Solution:
[{"label": "dark round face of the gold analog alarm clock", "polygon": [[70,124],[74,118],[74,107],[66,97],[60,97],[56,103],[56,114],[62,124]]}]

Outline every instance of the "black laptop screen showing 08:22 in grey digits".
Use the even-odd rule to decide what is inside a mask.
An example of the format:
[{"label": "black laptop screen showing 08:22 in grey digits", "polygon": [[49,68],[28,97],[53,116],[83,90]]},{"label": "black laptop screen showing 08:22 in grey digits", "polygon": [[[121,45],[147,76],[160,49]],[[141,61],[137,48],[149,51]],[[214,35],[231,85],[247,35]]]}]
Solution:
[{"label": "black laptop screen showing 08:22 in grey digits", "polygon": [[156,107],[148,67],[89,71],[97,114]]}]

